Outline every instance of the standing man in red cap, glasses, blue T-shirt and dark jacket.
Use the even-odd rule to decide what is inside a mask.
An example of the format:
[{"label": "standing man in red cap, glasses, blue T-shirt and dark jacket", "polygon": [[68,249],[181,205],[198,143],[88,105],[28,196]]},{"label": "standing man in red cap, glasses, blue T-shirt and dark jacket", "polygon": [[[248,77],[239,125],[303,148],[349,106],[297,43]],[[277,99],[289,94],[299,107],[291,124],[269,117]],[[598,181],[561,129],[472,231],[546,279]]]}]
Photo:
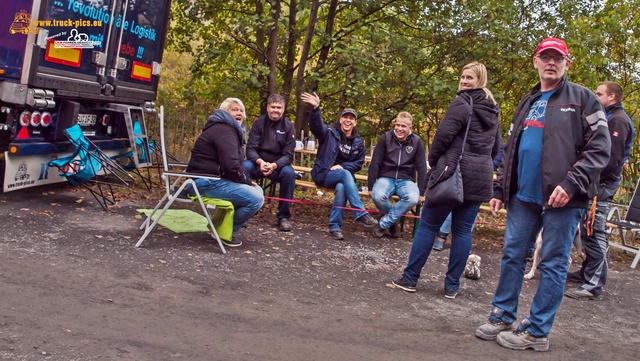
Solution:
[{"label": "standing man in red cap, glasses, blue T-shirt and dark jacket", "polygon": [[[572,240],[609,161],[605,113],[592,91],[568,81],[570,65],[562,39],[538,46],[533,67],[539,82],[513,115],[490,202],[494,215],[505,205],[507,222],[493,307],[475,335],[509,349],[549,349]],[[541,229],[540,283],[529,315],[516,323],[527,251],[536,238],[531,235]]]}]

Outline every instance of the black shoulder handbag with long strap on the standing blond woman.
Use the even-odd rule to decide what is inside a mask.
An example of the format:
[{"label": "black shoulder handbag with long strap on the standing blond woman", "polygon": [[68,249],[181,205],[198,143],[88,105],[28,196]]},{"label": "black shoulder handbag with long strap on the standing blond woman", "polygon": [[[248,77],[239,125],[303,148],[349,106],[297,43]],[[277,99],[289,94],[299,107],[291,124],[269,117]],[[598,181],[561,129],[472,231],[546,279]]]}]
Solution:
[{"label": "black shoulder handbag with long strap on the standing blond woman", "polygon": [[[453,174],[446,179],[441,179],[443,175],[449,169],[449,166],[444,167],[442,172],[437,177],[429,177],[429,183],[427,184],[427,191],[425,193],[424,204],[427,208],[442,207],[445,205],[457,205],[464,202],[464,190],[462,184],[462,172],[460,172],[460,160],[464,153],[464,146],[467,143],[467,135],[469,134],[469,126],[471,125],[471,115],[473,114],[473,99],[469,97],[471,104],[471,112],[467,121],[467,129],[464,132],[464,139],[462,140],[462,151],[460,157],[456,162],[456,170]],[[435,178],[435,179],[434,179]]]}]

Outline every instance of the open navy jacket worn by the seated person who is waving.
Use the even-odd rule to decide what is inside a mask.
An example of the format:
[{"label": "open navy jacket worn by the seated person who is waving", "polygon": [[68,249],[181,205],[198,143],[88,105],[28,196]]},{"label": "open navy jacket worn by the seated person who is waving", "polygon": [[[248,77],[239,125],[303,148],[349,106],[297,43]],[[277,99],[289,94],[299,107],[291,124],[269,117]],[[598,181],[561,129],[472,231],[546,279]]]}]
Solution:
[{"label": "open navy jacket worn by the seated person who is waving", "polygon": [[[332,166],[336,164],[336,158],[338,157],[338,147],[340,146],[340,130],[337,129],[339,125],[329,127],[322,121],[322,115],[320,107],[311,109],[309,112],[309,129],[311,133],[318,139],[318,155],[313,163],[313,169],[311,170],[311,177],[317,186],[321,187],[324,183],[324,179],[327,177],[327,173]],[[364,141],[357,135],[353,140],[351,146],[351,154],[349,160],[340,164],[342,168],[355,174],[362,169],[365,157]]]}]

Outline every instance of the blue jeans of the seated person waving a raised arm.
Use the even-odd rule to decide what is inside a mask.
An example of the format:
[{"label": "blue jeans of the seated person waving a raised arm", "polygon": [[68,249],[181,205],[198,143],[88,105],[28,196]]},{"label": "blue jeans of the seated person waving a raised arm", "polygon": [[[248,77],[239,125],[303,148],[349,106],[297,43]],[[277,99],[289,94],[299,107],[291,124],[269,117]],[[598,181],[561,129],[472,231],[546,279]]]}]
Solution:
[{"label": "blue jeans of the seated person waving a raised arm", "polygon": [[[364,203],[360,200],[358,186],[353,174],[346,169],[330,170],[321,187],[335,189],[336,195],[333,198],[333,207],[329,215],[329,231],[339,231],[344,222],[344,210],[347,200],[351,203],[351,208],[364,210]],[[358,219],[367,214],[364,211],[353,211],[353,218]]]}]

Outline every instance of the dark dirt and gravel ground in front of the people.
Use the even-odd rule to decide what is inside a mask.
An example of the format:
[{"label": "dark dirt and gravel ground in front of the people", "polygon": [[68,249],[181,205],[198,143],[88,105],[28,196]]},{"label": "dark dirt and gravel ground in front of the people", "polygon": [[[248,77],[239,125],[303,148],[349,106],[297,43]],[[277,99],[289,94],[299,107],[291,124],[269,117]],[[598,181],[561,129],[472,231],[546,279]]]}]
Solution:
[{"label": "dark dirt and gravel ground in front of the people", "polygon": [[[393,289],[411,238],[374,239],[327,212],[275,229],[271,208],[224,256],[205,234],[158,229],[142,249],[135,209],[109,212],[66,187],[0,194],[0,359],[6,360],[637,360],[640,277],[616,263],[600,302],[565,299],[547,353],[473,336],[488,315],[500,250],[474,235],[482,278],[443,297],[448,251],[416,294]],[[86,196],[85,196],[86,197]],[[480,240],[478,240],[480,239]],[[575,267],[575,266],[574,266]],[[528,310],[537,280],[524,286]]]}]

